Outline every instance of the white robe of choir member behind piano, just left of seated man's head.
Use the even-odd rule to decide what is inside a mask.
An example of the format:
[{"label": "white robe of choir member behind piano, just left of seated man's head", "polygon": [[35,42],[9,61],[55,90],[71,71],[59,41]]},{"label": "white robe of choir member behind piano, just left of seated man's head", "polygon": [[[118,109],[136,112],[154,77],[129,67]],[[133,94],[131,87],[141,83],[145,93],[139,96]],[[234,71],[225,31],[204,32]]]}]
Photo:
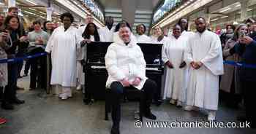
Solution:
[{"label": "white robe of choir member behind piano, just left of seated man's head", "polygon": [[99,29],[99,35],[102,36],[102,42],[113,42],[113,33],[115,27],[112,27],[110,30],[107,26]]}]

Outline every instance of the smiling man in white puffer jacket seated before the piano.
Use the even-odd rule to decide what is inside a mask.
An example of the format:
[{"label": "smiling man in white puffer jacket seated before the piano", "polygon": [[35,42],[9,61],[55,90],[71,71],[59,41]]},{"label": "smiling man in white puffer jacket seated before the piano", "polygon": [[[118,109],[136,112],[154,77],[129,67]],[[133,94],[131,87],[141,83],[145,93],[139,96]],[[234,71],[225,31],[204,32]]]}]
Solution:
[{"label": "smiling man in white puffer jacket seated before the piano", "polygon": [[131,38],[131,31],[127,26],[118,31],[118,39],[110,44],[105,55],[105,66],[108,71],[106,87],[112,92],[113,126],[111,134],[119,134],[121,120],[121,95],[124,87],[134,87],[143,91],[143,116],[148,119],[157,119],[151,113],[151,101],[157,88],[156,82],[146,77],[146,61],[136,40]]}]

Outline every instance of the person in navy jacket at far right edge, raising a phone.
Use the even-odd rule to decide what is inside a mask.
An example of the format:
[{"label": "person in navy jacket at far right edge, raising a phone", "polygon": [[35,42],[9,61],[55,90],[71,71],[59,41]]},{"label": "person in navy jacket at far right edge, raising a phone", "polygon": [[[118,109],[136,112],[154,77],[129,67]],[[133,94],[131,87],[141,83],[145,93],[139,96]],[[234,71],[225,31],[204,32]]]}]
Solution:
[{"label": "person in navy jacket at far right edge, raising a phone", "polygon": [[[238,43],[230,49],[230,55],[238,54],[241,56],[241,63],[256,65],[256,37],[253,39],[241,33]],[[239,76],[241,79],[241,90],[244,92],[244,106],[246,111],[245,120],[250,122],[250,127],[256,127],[256,110],[254,109],[256,69],[241,67]]]}]

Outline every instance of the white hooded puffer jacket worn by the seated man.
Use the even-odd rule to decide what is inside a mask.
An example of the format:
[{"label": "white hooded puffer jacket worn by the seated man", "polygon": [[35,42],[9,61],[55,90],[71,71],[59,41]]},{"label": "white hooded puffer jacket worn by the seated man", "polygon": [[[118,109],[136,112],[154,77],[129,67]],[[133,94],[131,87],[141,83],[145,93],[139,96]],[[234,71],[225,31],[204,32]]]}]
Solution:
[{"label": "white hooded puffer jacket worn by the seated man", "polygon": [[133,82],[136,76],[141,79],[140,84],[135,86],[138,90],[146,82],[146,61],[134,38],[127,45],[119,37],[110,44],[105,55],[105,66],[108,71],[107,88],[110,88],[112,82],[120,82],[124,78]]}]

